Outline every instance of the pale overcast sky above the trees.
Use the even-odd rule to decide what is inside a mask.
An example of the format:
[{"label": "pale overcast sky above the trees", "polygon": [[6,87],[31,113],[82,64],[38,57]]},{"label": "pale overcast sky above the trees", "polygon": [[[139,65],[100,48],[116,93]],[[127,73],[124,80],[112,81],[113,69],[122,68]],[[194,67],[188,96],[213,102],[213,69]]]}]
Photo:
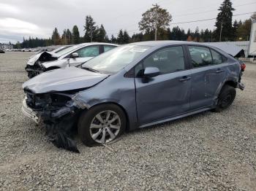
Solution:
[{"label": "pale overcast sky above the trees", "polygon": [[[159,4],[173,16],[172,23],[202,20],[216,17],[223,0],[0,0],[0,42],[17,42],[25,38],[48,38],[57,27],[62,34],[64,28],[77,25],[83,36],[86,15],[91,15],[97,25],[103,24],[108,36],[116,36],[121,28],[130,35],[138,32],[141,15],[152,4]],[[256,11],[256,0],[232,0],[234,15]],[[245,20],[250,15],[233,17]],[[215,20],[178,24],[179,27],[195,30],[214,28]]]}]

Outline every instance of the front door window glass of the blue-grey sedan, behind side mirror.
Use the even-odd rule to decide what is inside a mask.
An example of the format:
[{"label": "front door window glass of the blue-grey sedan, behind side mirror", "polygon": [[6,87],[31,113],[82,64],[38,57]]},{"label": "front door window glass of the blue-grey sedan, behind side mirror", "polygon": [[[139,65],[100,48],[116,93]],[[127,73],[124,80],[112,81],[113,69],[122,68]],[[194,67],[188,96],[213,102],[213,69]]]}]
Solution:
[{"label": "front door window glass of the blue-grey sedan, behind side mirror", "polygon": [[154,52],[143,61],[144,68],[157,67],[161,73],[185,69],[184,53],[181,46],[167,47]]}]

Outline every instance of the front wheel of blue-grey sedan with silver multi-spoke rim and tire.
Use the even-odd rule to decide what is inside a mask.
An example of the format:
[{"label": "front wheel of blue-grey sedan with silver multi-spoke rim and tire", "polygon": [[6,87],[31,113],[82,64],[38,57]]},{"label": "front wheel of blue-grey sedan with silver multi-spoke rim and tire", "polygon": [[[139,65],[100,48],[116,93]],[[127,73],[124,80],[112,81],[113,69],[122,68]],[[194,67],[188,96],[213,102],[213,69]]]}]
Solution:
[{"label": "front wheel of blue-grey sedan with silver multi-spoke rim and tire", "polygon": [[94,106],[80,115],[78,134],[83,144],[109,144],[124,133],[127,119],[115,104]]}]

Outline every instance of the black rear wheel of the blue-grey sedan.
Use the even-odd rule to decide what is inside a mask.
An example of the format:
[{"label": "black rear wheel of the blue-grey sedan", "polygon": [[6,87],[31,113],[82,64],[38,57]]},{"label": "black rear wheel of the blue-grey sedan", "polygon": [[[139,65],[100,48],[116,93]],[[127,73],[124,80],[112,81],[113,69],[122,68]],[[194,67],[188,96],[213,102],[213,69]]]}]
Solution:
[{"label": "black rear wheel of the blue-grey sedan", "polygon": [[227,109],[236,98],[236,89],[230,85],[224,85],[219,93],[218,103],[214,112],[221,112],[223,109]]}]

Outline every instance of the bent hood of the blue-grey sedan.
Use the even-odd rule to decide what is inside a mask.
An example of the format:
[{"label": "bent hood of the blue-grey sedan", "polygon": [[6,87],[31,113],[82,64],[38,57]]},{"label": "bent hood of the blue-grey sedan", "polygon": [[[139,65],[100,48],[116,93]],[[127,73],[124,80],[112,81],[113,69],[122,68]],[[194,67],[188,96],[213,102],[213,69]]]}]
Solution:
[{"label": "bent hood of the blue-grey sedan", "polygon": [[85,69],[69,67],[55,69],[39,74],[23,83],[22,87],[29,88],[34,93],[50,91],[66,91],[91,87],[107,78],[108,74],[99,74]]}]

